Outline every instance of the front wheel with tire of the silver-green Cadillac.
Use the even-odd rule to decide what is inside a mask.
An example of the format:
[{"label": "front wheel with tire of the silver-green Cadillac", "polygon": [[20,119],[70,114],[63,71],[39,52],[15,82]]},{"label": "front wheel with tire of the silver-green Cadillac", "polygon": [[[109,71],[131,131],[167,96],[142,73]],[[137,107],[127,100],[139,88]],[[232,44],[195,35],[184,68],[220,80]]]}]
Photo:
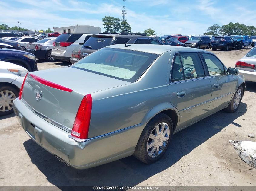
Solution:
[{"label": "front wheel with tire of the silver-green Cadillac", "polygon": [[238,110],[238,107],[243,98],[243,92],[244,92],[243,86],[239,86],[231,102],[228,104],[228,107],[225,108],[225,111],[227,111],[228,113],[234,113]]}]

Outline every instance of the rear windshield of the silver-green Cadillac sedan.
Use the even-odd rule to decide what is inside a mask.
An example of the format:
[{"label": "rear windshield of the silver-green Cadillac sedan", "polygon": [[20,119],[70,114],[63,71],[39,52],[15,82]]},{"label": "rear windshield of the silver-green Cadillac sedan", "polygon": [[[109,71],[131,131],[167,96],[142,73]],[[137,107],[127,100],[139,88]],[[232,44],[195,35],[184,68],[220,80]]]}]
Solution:
[{"label": "rear windshield of the silver-green Cadillac sedan", "polygon": [[134,50],[103,48],[91,53],[71,67],[135,82],[158,56],[158,54]]}]

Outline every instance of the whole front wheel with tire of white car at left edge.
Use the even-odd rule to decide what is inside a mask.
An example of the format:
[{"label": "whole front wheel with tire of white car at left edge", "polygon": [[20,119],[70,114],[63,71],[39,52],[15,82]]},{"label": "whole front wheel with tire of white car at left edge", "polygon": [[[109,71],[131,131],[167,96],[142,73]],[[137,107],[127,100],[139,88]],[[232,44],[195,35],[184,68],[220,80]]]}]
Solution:
[{"label": "whole front wheel with tire of white car at left edge", "polygon": [[[12,102],[18,96],[18,89],[8,85],[0,86],[0,116],[9,115],[13,113]],[[7,100],[7,102],[5,100]],[[5,105],[1,103],[4,103]]]}]

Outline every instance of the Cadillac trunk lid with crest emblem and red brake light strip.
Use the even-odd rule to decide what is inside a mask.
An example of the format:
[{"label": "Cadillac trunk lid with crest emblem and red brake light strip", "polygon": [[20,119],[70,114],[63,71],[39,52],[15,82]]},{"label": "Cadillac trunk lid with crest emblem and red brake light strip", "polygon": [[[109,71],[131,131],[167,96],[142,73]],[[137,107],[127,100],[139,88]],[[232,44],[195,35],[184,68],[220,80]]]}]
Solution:
[{"label": "Cadillac trunk lid with crest emblem and red brake light strip", "polygon": [[27,76],[22,100],[38,116],[71,132],[86,94],[128,83],[70,67],[42,70]]}]

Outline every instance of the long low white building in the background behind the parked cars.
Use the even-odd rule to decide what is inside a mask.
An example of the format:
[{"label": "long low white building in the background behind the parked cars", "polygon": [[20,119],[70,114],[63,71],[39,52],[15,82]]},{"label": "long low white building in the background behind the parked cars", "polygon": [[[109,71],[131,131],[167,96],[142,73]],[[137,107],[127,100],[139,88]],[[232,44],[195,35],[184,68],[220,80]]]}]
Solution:
[{"label": "long low white building in the background behind the parked cars", "polygon": [[53,27],[54,32],[58,33],[87,33],[98,34],[101,33],[100,27],[93,27],[89,25],[75,25],[69,27]]}]

